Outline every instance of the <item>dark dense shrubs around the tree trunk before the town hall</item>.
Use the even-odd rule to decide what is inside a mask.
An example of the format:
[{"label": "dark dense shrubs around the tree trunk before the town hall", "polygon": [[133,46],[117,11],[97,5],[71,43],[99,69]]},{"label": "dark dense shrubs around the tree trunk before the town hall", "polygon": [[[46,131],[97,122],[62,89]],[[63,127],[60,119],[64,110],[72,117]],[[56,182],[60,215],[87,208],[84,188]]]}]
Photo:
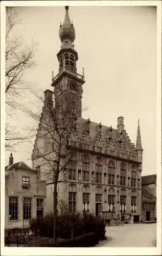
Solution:
[{"label": "dark dense shrubs around the tree trunk before the town hall", "polygon": [[[31,221],[35,236],[53,238],[53,214]],[[105,224],[100,217],[92,214],[66,213],[57,217],[57,238],[70,239],[90,232],[99,233],[100,240],[105,238]]]}]

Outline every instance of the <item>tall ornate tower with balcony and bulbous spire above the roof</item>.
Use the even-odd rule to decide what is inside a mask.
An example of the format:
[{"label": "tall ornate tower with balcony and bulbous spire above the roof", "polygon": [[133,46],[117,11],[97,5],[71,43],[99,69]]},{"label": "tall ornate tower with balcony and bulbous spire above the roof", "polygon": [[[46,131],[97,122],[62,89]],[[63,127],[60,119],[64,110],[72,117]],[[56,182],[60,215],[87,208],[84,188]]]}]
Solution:
[{"label": "tall ornate tower with balcony and bulbous spire above the roof", "polygon": [[54,87],[55,109],[81,117],[82,114],[82,75],[77,73],[76,62],[78,53],[74,49],[75,29],[68,15],[68,6],[65,6],[64,22],[59,29],[61,49],[57,54],[59,72],[52,77],[51,86]]}]

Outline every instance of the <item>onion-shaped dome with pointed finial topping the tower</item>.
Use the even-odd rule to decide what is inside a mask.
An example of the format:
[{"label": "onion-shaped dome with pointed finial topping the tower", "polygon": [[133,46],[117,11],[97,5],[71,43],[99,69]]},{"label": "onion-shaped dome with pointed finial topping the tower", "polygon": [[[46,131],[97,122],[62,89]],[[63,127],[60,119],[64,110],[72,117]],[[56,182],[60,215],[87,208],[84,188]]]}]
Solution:
[{"label": "onion-shaped dome with pointed finial topping the tower", "polygon": [[71,39],[72,42],[74,42],[75,29],[73,24],[71,23],[70,17],[68,16],[68,6],[65,6],[65,10],[66,10],[65,18],[64,18],[63,24],[60,25],[59,36],[60,36],[61,42],[63,42],[65,38],[69,38]]}]

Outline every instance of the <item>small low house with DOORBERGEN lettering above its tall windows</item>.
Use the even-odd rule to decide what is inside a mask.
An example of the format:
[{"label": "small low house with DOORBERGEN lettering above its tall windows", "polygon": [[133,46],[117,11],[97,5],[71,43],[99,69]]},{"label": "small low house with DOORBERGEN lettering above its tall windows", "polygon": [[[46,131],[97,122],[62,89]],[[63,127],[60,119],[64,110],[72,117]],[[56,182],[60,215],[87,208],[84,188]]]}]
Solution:
[{"label": "small low house with DOORBERGEN lettering above its tall windows", "polygon": [[24,162],[6,167],[5,228],[28,227],[31,218],[47,213],[46,203],[46,182],[40,180],[38,170]]}]

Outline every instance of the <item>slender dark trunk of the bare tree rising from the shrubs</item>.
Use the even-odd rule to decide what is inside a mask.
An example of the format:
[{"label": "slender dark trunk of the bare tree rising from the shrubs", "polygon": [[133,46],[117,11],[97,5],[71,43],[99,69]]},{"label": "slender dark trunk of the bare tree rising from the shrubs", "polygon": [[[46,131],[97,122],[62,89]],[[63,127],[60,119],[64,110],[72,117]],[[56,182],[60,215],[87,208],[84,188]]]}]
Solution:
[{"label": "slender dark trunk of the bare tree rising from the shrubs", "polygon": [[57,242],[57,181],[58,181],[58,174],[55,175],[54,179],[54,231],[53,231],[53,239],[54,243]]}]

